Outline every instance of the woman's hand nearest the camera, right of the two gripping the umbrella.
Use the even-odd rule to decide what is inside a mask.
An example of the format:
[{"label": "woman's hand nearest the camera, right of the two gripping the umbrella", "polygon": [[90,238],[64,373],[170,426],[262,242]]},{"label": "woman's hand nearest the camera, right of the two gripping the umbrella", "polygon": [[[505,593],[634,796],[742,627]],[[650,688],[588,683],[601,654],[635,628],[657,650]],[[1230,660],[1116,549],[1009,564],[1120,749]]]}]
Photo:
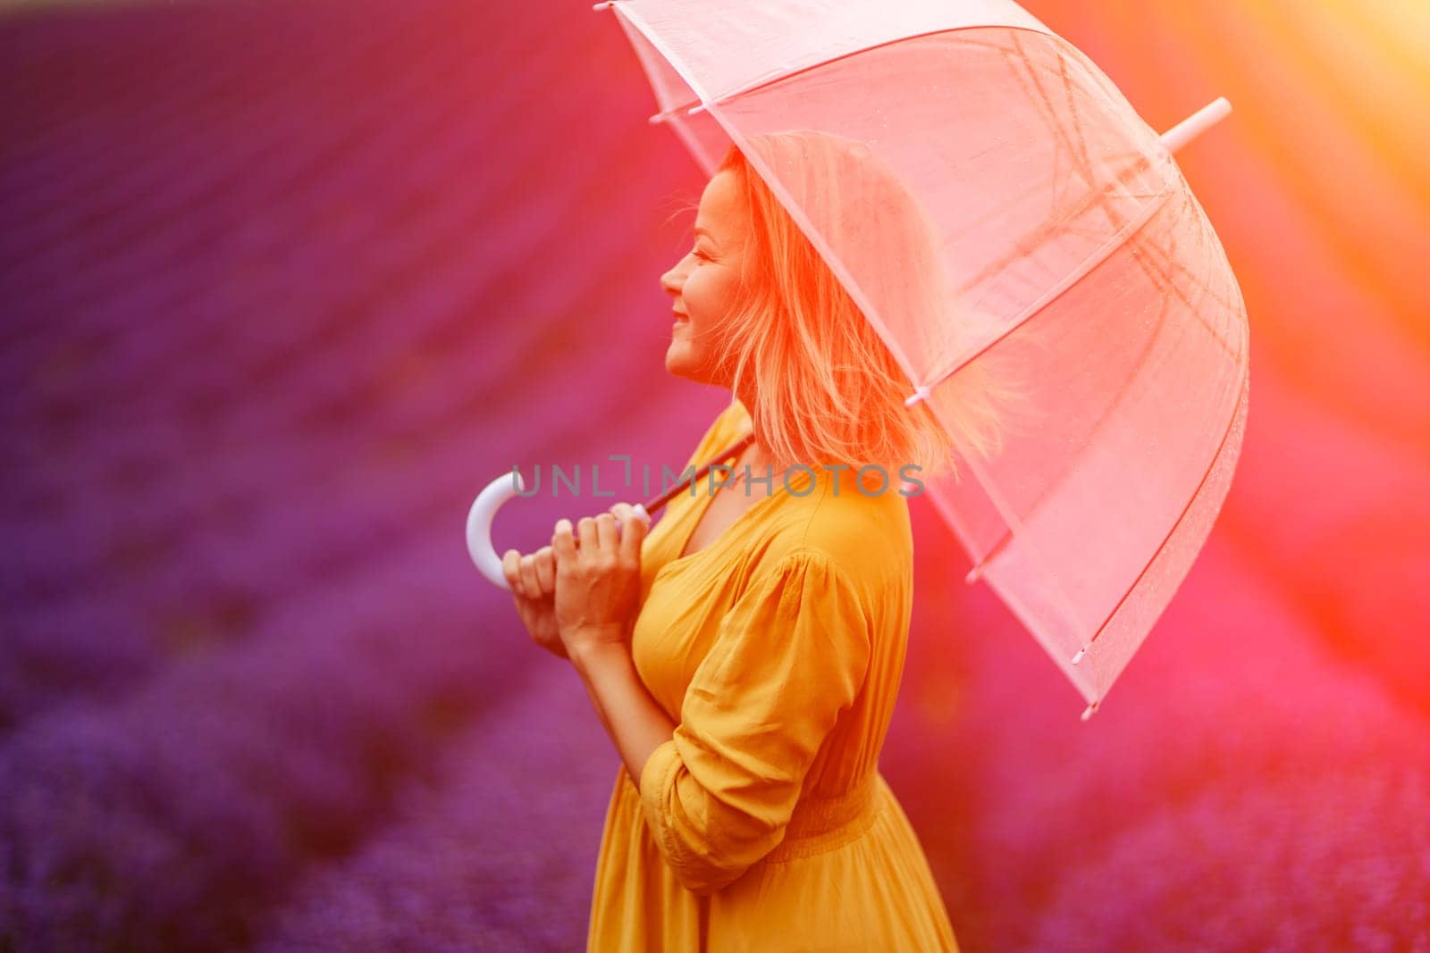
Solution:
[{"label": "woman's hand nearest the camera, right of the two gripping the umbrella", "polygon": [[555,614],[568,657],[626,640],[641,602],[641,542],[648,529],[649,517],[629,503],[582,517],[575,536],[571,520],[556,523],[551,537],[556,553]]}]

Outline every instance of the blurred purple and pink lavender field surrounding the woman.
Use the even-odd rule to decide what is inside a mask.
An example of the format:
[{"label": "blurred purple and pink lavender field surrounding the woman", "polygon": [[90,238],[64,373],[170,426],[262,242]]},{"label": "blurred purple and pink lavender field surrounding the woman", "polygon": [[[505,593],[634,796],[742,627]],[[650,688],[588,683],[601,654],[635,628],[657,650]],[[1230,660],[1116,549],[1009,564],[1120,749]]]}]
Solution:
[{"label": "blurred purple and pink lavender field surrounding the woman", "polygon": [[[1190,3],[1025,6],[1148,114],[1238,104],[1184,167],[1246,449],[1087,723],[915,500],[884,774],[965,953],[1430,952],[1430,160],[1350,90],[1310,119],[1380,184],[1317,179]],[[619,759],[462,526],[512,464],[678,467],[728,399],[664,371],[704,181],[609,16],[0,11],[0,950],[583,949]]]}]

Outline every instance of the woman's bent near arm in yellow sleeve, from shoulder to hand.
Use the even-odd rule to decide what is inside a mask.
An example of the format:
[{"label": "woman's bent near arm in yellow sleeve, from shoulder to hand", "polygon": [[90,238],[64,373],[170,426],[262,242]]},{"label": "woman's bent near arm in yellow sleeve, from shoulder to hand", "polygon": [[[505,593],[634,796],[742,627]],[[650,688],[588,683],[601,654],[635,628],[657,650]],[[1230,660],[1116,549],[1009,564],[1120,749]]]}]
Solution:
[{"label": "woman's bent near arm in yellow sleeve, from shoulder to hand", "polygon": [[674,724],[631,659],[645,527],[623,503],[612,512],[622,537],[612,514],[583,519],[579,550],[571,523],[556,524],[561,637],[661,856],[682,887],[709,894],[784,840],[809,766],[864,686],[868,617],[827,556],[786,556],[721,619]]}]

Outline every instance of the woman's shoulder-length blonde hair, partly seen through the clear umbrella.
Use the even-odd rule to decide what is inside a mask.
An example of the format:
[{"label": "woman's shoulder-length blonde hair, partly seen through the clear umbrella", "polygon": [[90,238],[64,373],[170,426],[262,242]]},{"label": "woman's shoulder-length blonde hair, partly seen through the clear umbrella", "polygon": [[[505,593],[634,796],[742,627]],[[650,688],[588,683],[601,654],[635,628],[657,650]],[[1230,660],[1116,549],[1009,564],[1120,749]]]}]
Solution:
[{"label": "woman's shoulder-length blonde hair, partly seen through the clear umbrella", "polygon": [[[868,147],[828,133],[798,130],[751,136],[748,144],[805,210],[822,209],[831,226],[872,240],[879,260],[858,276],[861,290],[904,314],[901,340],[947,343],[957,321],[931,223]],[[924,476],[951,470],[954,456],[988,457],[1001,449],[990,364],[965,364],[912,407],[908,374],[799,224],[731,146],[716,171],[735,174],[749,216],[738,303],[725,316],[716,366],[739,394],[776,467],[795,463],[878,464],[894,473],[915,464]],[[857,231],[851,231],[857,230]],[[867,246],[868,247],[868,246]],[[878,297],[875,297],[878,294]],[[987,356],[985,356],[987,357]]]}]

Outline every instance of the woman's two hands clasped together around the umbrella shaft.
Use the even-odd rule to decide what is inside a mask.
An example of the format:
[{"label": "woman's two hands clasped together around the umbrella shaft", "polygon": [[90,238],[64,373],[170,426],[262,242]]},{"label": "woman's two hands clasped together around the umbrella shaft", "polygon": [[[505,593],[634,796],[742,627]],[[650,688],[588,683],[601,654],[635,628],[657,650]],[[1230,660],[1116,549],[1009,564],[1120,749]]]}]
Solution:
[{"label": "woman's two hands clasped together around the umbrella shaft", "polygon": [[562,659],[625,642],[639,607],[648,529],[629,503],[616,503],[578,520],[575,533],[571,520],[558,520],[551,544],[535,553],[506,550],[502,574],[532,642]]}]

